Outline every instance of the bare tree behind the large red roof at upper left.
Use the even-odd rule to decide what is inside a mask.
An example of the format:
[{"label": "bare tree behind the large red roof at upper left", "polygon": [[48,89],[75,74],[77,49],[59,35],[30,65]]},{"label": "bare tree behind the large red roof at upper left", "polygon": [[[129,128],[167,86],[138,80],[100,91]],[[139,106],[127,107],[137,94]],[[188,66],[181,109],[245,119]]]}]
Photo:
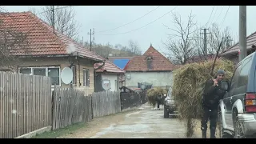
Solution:
[{"label": "bare tree behind the large red roof at upper left", "polygon": [[[30,10],[36,12],[34,9]],[[71,6],[45,6],[42,8],[42,13],[39,13],[38,16],[50,26],[54,26],[58,32],[66,34],[68,37],[78,41],[78,30],[80,26],[78,22],[74,20],[75,13]]]}]

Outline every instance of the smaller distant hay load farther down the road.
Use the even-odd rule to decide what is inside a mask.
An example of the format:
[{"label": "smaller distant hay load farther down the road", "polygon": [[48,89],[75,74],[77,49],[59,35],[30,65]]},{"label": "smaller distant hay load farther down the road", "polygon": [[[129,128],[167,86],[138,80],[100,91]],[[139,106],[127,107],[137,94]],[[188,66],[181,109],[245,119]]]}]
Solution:
[{"label": "smaller distant hay load farther down the road", "polygon": [[[153,89],[147,90],[146,95],[147,95],[149,104],[154,107],[157,104],[156,100],[158,98],[158,95],[161,95],[163,97],[164,94],[167,94],[166,89],[162,89],[161,87],[154,87]],[[161,104],[163,104],[163,102]]]}]

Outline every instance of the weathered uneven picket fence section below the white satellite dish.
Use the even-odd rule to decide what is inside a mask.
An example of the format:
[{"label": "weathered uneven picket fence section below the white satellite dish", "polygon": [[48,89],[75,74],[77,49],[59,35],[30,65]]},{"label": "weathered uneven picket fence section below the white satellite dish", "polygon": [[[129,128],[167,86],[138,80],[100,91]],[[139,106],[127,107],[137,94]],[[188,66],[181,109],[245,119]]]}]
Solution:
[{"label": "weathered uneven picket fence section below the white satellite dish", "polygon": [[92,119],[91,97],[70,88],[55,88],[53,94],[53,130]]}]

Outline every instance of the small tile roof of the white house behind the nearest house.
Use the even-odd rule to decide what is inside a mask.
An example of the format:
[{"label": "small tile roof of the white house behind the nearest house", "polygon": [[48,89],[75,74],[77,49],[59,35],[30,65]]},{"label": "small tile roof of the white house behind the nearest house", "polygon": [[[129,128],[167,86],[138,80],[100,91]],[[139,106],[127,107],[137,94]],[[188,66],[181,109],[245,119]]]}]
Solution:
[{"label": "small tile roof of the white house behind the nearest house", "polygon": [[[101,56],[98,55],[99,58],[102,59],[102,61],[104,61],[104,58],[102,58]],[[103,62],[100,63],[95,63],[94,64],[94,69],[97,69],[98,66],[102,66]],[[109,72],[109,73],[125,73],[125,70],[120,69],[118,66],[115,66],[114,63],[110,62],[109,60],[106,60],[105,65],[99,69],[96,70],[96,72]]]}]

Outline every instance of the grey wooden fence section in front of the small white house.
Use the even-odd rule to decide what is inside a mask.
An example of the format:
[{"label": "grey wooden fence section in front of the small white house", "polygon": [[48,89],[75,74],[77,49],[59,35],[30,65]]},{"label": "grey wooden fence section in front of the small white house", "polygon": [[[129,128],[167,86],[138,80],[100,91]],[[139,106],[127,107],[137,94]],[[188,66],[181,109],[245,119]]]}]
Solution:
[{"label": "grey wooden fence section in front of the small white house", "polygon": [[102,91],[92,94],[94,117],[102,117],[121,112],[120,93]]}]

